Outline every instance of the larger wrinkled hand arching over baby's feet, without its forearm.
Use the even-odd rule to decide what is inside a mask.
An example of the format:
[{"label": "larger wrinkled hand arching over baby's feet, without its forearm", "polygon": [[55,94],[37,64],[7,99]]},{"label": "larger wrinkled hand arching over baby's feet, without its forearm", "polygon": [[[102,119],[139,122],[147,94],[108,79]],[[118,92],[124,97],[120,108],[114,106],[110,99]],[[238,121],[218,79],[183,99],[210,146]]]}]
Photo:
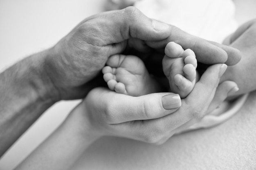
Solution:
[{"label": "larger wrinkled hand arching over baby's feet, without its forearm", "polygon": [[[84,97],[88,82],[100,72],[110,55],[129,47],[129,39],[144,41],[150,48],[164,48],[169,41],[175,41],[194,50],[198,61],[209,64],[227,60],[227,64],[234,64],[240,60],[239,52],[233,48],[219,45],[222,50],[128,7],[88,17],[49,49],[45,70],[58,94],[56,100]],[[228,58],[227,53],[236,55]]]}]

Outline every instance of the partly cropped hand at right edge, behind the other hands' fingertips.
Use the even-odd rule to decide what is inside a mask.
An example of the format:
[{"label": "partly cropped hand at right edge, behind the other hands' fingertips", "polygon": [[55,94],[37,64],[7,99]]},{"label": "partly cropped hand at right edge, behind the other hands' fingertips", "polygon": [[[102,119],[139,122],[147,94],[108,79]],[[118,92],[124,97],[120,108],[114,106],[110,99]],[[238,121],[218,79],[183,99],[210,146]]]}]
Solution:
[{"label": "partly cropped hand at right edge, behind the other hands' fingertips", "polygon": [[256,89],[256,20],[240,26],[224,43],[239,49],[242,59],[238,64],[229,66],[220,81],[236,82],[239,87],[236,95],[252,92]]}]

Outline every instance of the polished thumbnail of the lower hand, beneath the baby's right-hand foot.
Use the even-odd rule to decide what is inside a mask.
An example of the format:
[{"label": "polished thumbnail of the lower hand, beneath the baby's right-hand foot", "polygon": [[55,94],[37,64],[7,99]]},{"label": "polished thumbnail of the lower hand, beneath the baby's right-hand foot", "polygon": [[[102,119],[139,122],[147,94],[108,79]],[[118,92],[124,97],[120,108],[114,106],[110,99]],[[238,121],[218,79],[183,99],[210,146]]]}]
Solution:
[{"label": "polished thumbnail of the lower hand, beneath the baby's right-hand foot", "polygon": [[162,105],[164,109],[175,109],[181,106],[181,99],[178,94],[169,94],[162,97]]}]

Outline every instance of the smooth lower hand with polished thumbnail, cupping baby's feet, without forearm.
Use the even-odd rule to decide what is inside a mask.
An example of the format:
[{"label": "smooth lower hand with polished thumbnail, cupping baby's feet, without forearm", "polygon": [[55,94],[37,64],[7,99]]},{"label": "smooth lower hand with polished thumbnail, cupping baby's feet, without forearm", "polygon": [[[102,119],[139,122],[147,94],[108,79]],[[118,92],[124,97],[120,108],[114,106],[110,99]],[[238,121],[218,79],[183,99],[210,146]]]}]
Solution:
[{"label": "smooth lower hand with polished thumbnail, cupping baby's feet, without forearm", "polygon": [[181,100],[180,108],[177,102],[180,99],[173,102],[168,97],[172,93],[132,97],[95,88],[78,106],[87,122],[81,124],[81,129],[90,129],[94,135],[128,137],[161,144],[180,131],[181,126],[186,128],[190,122],[204,116],[225,69],[222,64],[210,66],[189,96]]}]

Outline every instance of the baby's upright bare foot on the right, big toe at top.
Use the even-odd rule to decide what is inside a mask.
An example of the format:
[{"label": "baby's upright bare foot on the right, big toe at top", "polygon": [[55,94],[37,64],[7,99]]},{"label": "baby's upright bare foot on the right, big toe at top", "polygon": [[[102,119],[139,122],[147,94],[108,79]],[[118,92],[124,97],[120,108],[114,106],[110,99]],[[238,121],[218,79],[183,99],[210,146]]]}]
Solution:
[{"label": "baby's upright bare foot on the right, big toe at top", "polygon": [[164,74],[169,80],[171,92],[186,98],[195,86],[197,60],[191,49],[184,50],[175,42],[165,47],[162,61]]}]

